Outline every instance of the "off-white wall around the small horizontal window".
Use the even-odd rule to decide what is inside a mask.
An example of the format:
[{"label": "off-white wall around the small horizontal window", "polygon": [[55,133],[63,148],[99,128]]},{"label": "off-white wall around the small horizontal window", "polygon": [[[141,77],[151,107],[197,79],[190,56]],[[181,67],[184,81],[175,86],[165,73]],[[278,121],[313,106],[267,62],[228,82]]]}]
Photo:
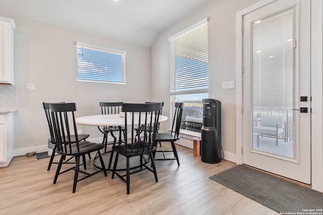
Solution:
[{"label": "off-white wall around the small horizontal window", "polygon": [[[46,149],[49,131],[42,102],[75,102],[76,116],[84,116],[100,114],[100,101],[149,100],[150,49],[17,16],[6,17],[14,19],[17,25],[14,32],[14,76],[18,86],[15,156]],[[77,82],[76,41],[126,51],[126,85]],[[35,91],[27,91],[26,83],[35,84]],[[89,139],[102,137],[96,127],[78,128],[89,133]]]}]

